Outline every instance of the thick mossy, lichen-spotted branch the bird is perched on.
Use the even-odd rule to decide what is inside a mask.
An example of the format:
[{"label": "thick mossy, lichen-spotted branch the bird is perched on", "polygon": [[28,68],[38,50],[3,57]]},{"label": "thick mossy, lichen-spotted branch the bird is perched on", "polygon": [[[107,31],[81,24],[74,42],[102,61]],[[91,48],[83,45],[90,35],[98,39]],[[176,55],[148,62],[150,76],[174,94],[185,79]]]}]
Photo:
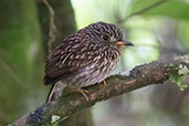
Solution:
[{"label": "thick mossy, lichen-spotted branch the bird is perched on", "polygon": [[[43,104],[35,111],[15,120],[13,126],[38,126],[50,123],[53,115],[65,118],[81,109],[93,106],[95,103],[105,101],[124,93],[132,92],[151,84],[161,84],[169,78],[169,75],[177,72],[180,65],[189,69],[189,54],[178,56],[165,62],[151,62],[133,69],[128,76],[113,75],[106,78],[107,85],[95,84],[88,86],[90,101],[86,102],[80,93],[71,93],[57,101]],[[170,69],[175,66],[176,69]]]}]

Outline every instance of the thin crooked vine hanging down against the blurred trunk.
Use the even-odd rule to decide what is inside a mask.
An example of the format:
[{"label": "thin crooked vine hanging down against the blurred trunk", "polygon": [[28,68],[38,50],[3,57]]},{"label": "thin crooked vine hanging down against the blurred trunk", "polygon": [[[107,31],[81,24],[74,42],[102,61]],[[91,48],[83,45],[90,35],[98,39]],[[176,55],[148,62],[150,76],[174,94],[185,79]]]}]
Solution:
[{"label": "thin crooked vine hanging down against the blurred trunk", "polygon": [[48,2],[48,0],[43,0],[43,3],[48,7],[49,9],[49,19],[50,19],[50,29],[49,29],[49,41],[48,41],[48,52],[51,53],[52,51],[52,45],[55,42],[56,39],[56,27],[54,22],[54,10],[51,7],[51,4]]}]

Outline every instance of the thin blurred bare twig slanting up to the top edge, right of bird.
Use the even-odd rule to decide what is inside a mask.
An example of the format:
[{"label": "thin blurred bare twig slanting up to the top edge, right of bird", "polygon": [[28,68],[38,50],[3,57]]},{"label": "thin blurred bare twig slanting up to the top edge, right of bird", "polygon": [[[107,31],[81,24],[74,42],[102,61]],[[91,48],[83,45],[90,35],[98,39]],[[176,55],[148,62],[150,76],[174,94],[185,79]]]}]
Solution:
[{"label": "thin blurred bare twig slanting up to the top edge, right of bird", "polygon": [[160,4],[162,4],[162,3],[167,2],[167,1],[169,1],[169,0],[159,0],[159,1],[146,7],[146,8],[141,9],[141,10],[139,10],[139,11],[136,11],[136,12],[129,14],[128,17],[125,17],[124,19],[117,20],[116,23],[120,24],[120,23],[125,22],[126,20],[128,20],[129,18],[132,18],[134,15],[143,14],[143,13],[145,13],[145,12],[147,12],[147,11],[149,11],[149,10],[151,10],[151,9],[158,7],[158,6],[160,6]]}]

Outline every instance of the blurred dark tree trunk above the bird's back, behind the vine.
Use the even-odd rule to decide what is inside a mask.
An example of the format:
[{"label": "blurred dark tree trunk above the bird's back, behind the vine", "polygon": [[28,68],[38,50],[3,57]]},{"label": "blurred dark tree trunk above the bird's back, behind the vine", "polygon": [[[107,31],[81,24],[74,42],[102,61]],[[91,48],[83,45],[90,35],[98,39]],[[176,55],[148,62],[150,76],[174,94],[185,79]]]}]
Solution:
[{"label": "blurred dark tree trunk above the bird's back, behind the vine", "polygon": [[[53,48],[62,42],[62,40],[75,32],[76,23],[74,11],[72,9],[70,0],[49,0],[49,3],[54,10],[54,22],[56,27],[55,31],[55,41],[53,43]],[[44,6],[42,0],[38,1],[39,6],[39,14],[40,21],[43,30],[43,40],[45,42],[45,46],[48,45],[49,40],[49,10],[48,7]]]}]

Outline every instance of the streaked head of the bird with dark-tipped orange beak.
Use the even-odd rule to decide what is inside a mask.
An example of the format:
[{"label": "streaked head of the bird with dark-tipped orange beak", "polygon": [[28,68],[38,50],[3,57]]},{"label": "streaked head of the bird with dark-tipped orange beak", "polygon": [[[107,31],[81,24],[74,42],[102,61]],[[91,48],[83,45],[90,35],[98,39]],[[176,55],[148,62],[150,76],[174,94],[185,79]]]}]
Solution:
[{"label": "streaked head of the bird with dark-tipped orange beak", "polygon": [[124,40],[123,31],[111,23],[97,22],[88,25],[94,42],[107,45],[115,45],[122,49],[126,45],[134,45],[132,42]]}]

